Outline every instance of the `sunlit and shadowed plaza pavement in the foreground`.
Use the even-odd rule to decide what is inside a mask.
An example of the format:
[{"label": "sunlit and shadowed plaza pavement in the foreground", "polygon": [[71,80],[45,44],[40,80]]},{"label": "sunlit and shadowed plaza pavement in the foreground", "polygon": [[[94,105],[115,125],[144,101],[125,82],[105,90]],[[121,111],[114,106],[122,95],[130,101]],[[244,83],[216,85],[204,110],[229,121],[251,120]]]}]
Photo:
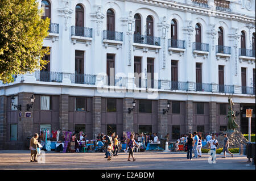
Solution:
[{"label": "sunlit and shadowed plaza pavement in the foreground", "polygon": [[[146,151],[134,153],[135,162],[128,162],[127,153],[119,153],[111,161],[105,159],[105,153],[55,153],[46,151],[45,163],[31,163],[30,150],[0,150],[0,170],[4,169],[93,169],[93,170],[255,170],[255,165],[247,163],[245,155],[234,154],[231,158],[221,158],[217,154],[217,163],[208,163],[208,154],[201,158],[187,159],[184,152]],[[39,158],[38,158],[39,159]],[[132,159],[131,159],[132,160]]]}]

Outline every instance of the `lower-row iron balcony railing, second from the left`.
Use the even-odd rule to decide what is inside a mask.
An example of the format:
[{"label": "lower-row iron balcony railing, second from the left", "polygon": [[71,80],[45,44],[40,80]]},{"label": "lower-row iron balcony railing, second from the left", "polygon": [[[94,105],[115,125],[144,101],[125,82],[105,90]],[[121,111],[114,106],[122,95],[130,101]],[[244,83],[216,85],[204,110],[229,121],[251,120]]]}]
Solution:
[{"label": "lower-row iron balcony railing, second from the left", "polygon": [[81,83],[86,85],[95,85],[96,75],[91,74],[71,74],[71,83]]}]

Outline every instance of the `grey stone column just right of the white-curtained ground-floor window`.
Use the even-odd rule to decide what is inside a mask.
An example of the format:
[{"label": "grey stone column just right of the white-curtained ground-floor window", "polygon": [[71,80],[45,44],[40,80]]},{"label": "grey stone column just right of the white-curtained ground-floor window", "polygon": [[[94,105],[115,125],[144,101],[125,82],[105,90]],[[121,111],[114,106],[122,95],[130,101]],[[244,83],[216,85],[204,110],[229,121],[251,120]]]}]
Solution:
[{"label": "grey stone column just right of the white-curtained ground-floor window", "polygon": [[68,131],[68,95],[60,95],[60,129]]}]

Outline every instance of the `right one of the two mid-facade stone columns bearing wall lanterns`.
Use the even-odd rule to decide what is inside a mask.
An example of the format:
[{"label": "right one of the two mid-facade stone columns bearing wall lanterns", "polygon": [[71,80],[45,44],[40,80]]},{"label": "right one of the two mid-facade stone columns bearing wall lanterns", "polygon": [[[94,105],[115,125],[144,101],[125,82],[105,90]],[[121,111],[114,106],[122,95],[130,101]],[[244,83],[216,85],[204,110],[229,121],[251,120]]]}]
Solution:
[{"label": "right one of the two mid-facade stone columns bearing wall lanterns", "polygon": [[163,114],[163,109],[167,109],[167,100],[158,100],[158,138],[164,138],[168,133],[168,112]]}]

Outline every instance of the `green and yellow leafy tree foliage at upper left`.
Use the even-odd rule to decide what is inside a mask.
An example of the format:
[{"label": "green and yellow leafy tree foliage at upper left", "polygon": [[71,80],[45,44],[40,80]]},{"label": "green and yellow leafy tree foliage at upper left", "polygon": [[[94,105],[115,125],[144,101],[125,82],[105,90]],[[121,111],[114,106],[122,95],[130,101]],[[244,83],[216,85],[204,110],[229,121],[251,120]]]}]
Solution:
[{"label": "green and yellow leafy tree foliage at upper left", "polygon": [[12,75],[44,68],[42,49],[48,36],[49,19],[42,19],[35,0],[0,0],[0,80],[13,82]]}]

